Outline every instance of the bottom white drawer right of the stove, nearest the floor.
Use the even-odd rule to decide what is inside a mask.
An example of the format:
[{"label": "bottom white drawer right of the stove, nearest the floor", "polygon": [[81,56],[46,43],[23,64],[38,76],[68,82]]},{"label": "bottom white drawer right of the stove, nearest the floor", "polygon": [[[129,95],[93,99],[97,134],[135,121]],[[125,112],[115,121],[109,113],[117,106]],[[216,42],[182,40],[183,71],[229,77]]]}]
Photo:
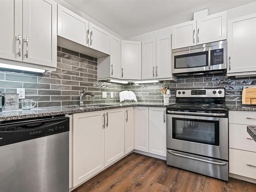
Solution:
[{"label": "bottom white drawer right of the stove, nearest the floor", "polygon": [[256,179],[256,153],[230,148],[229,172]]}]

